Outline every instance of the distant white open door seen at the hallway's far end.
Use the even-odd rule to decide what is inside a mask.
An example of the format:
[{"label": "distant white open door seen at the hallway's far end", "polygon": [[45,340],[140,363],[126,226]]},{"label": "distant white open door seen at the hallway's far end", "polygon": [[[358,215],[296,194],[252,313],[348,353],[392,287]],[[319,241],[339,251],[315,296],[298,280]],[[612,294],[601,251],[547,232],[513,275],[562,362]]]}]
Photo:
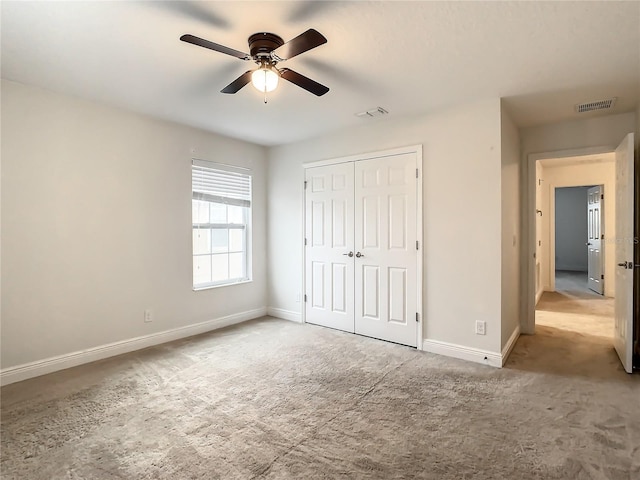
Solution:
[{"label": "distant white open door seen at the hallway's far end", "polygon": [[591,290],[600,295],[604,293],[604,263],[601,248],[602,204],[604,203],[602,191],[601,185],[587,190],[588,285]]}]

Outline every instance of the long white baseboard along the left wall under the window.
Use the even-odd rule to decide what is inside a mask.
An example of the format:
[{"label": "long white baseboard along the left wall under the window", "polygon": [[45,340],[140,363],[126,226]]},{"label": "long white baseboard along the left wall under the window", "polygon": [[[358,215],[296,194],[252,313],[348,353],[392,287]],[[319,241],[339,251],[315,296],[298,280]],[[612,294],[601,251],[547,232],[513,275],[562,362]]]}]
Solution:
[{"label": "long white baseboard along the left wall under the window", "polygon": [[152,333],[142,337],[130,338],[119,342],[100,345],[98,347],[71,352],[57,357],[45,358],[31,363],[17,365],[15,367],[5,368],[0,371],[0,385],[9,385],[10,383],[20,382],[28,378],[39,377],[47,373],[57,372],[66,368],[76,367],[85,363],[95,362],[103,358],[122,355],[123,353],[133,352],[142,348],[152,347],[161,343],[179,340],[181,338],[191,337],[200,333],[209,332],[218,328],[227,327],[236,323],[246,322],[254,318],[264,317],[267,314],[267,308],[256,308],[246,312],[240,312],[226,317],[220,317],[206,322],[187,325],[186,327],[178,327],[163,332]]}]

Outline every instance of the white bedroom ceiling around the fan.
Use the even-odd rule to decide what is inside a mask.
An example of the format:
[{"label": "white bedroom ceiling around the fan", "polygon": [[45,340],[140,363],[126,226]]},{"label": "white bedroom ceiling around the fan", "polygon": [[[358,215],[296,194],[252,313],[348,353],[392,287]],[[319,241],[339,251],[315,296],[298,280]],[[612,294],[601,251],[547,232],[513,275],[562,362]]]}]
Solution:
[{"label": "white bedroom ceiling around the fan", "polygon": [[[2,1],[2,77],[263,145],[367,121],[376,106],[420,114],[505,97],[519,126],[582,118],[575,103],[640,101],[640,2]],[[281,66],[331,88],[288,82],[263,103],[220,90],[249,65],[179,41],[247,51],[315,28],[328,43]]]}]

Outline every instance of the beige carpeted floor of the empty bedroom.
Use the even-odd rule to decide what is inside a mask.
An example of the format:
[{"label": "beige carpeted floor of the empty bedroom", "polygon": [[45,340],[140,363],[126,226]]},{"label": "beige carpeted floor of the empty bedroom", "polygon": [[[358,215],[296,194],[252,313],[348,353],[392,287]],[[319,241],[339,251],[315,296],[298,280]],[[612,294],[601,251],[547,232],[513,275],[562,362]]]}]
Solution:
[{"label": "beige carpeted floor of the empty bedroom", "polygon": [[500,370],[264,318],[2,388],[0,473],[640,478],[640,377],[587,337],[541,326]]}]

